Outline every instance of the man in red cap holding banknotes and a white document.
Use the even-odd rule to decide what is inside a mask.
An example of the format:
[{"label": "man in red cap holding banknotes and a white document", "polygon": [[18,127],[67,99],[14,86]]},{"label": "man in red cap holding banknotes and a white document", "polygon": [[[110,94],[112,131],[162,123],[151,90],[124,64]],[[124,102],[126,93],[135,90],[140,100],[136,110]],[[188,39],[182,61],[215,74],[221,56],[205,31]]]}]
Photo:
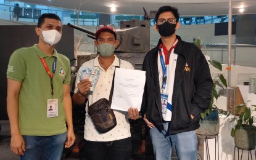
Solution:
[{"label": "man in red cap holding banknotes and a white document", "polygon": [[[86,118],[85,118],[85,152],[86,159],[130,159],[131,153],[131,132],[128,118],[139,118],[139,112],[134,108],[127,111],[114,110],[117,119],[117,126],[109,132],[101,134],[97,132],[93,122],[88,114],[88,106],[101,98],[109,98],[112,87],[113,75],[115,67],[134,69],[131,63],[120,60],[114,54],[115,48],[118,46],[117,33],[112,25],[97,26],[95,33],[96,41],[94,45],[97,47],[99,55],[93,60],[83,63],[81,68],[94,67],[101,70],[99,79],[93,92],[88,79],[81,81],[76,80],[75,94],[73,100],[76,104],[84,104],[86,102]],[[80,73],[80,70],[78,73]],[[79,78],[79,74],[76,79]]]}]

